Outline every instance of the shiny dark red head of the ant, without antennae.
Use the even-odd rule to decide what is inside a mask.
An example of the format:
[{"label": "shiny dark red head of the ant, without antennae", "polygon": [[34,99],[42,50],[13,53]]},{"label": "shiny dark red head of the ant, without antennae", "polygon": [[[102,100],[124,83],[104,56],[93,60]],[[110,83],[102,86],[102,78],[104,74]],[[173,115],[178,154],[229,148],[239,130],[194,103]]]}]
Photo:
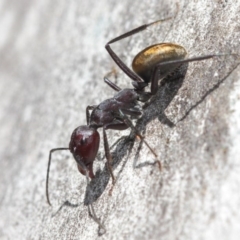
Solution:
[{"label": "shiny dark red head of the ant, without antennae", "polygon": [[96,129],[89,126],[80,126],[76,128],[71,136],[69,149],[73,154],[78,170],[83,175],[94,177],[93,161],[99,148],[100,136]]}]

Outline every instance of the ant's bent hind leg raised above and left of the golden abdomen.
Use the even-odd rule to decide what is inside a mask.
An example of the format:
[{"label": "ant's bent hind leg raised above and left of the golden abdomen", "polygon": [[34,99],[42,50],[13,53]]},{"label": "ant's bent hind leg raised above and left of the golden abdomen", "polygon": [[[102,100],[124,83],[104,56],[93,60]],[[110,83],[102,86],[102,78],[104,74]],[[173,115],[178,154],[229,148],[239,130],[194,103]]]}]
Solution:
[{"label": "ant's bent hind leg raised above and left of the golden abdomen", "polygon": [[110,44],[111,43],[114,43],[114,42],[117,42],[121,39],[124,39],[126,37],[129,37],[131,35],[134,35],[138,32],[141,32],[145,29],[147,29],[148,27],[154,25],[154,24],[158,24],[160,22],[163,22],[163,21],[167,21],[171,19],[170,18],[166,18],[166,19],[162,19],[162,20],[158,20],[158,21],[155,21],[155,22],[152,22],[152,23],[149,23],[149,24],[144,24],[140,27],[137,27],[129,32],[126,32],[114,39],[112,39],[111,41],[109,41],[106,45],[105,45],[105,48],[106,50],[108,51],[109,55],[112,57],[112,59],[114,60],[114,62],[119,66],[119,68],[122,69],[122,71],[127,74],[133,81],[136,81],[136,82],[143,82],[143,80],[136,74],[134,73],[118,56],[117,54],[112,50],[112,48],[110,47]]}]

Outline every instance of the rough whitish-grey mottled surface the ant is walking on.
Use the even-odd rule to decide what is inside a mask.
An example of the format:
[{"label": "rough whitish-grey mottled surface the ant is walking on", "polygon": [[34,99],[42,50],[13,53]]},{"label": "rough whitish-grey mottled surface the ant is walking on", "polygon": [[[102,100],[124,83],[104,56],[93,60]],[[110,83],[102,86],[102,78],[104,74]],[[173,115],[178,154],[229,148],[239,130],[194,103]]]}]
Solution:
[{"label": "rough whitish-grey mottled surface the ant is walking on", "polygon": [[[107,230],[101,239],[239,239],[240,61],[231,56],[189,64],[185,79],[165,83],[146,107],[138,124],[162,172],[144,144],[139,150],[136,140],[130,149],[123,139],[112,150],[112,196],[105,160],[96,161],[85,194],[73,158],[55,153],[53,207],[46,203],[49,150],[68,146],[72,130],[86,123],[88,104],[113,95],[103,82],[115,67],[105,43],[173,16],[177,3],[176,18],[114,44],[128,65],[163,41],[183,45],[190,56],[240,53],[240,1],[1,1],[0,239],[98,239],[84,206],[92,191]],[[131,87],[116,69],[113,80]],[[128,134],[109,131],[109,141]],[[66,200],[77,206],[58,210]]]}]

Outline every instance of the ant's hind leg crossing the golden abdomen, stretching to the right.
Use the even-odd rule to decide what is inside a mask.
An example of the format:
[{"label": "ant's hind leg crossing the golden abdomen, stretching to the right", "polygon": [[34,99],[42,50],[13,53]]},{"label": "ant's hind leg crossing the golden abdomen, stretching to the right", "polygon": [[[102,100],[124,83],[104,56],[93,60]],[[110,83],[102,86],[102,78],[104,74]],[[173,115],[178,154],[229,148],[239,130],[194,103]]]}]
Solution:
[{"label": "ant's hind leg crossing the golden abdomen, stretching to the right", "polygon": [[[161,66],[166,66],[169,65],[169,72],[171,72],[171,69],[176,69],[183,63],[188,63],[188,62],[194,62],[194,61],[202,61],[214,57],[220,57],[220,56],[228,56],[228,55],[238,55],[238,54],[233,54],[233,53],[226,53],[226,54],[209,54],[209,55],[204,55],[204,56],[199,56],[199,57],[192,57],[192,58],[187,58],[187,59],[178,59],[178,60],[172,60],[172,61],[166,61],[166,62],[161,62],[158,63],[153,70],[153,74],[151,77],[151,94],[155,95],[157,90],[158,90],[158,81],[159,81],[159,70]],[[167,75],[167,74],[166,74]],[[163,79],[166,76],[161,76],[161,79]]]}]

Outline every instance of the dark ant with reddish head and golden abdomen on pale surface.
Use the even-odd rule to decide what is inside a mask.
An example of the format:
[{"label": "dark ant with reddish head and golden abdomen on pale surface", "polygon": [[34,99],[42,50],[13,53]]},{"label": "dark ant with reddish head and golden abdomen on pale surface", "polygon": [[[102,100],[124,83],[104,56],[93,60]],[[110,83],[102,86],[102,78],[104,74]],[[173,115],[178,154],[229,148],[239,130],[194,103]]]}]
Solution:
[{"label": "dark ant with reddish head and golden abdomen on pale surface", "polygon": [[[146,102],[155,95],[158,90],[158,81],[164,79],[174,71],[177,71],[182,64],[192,61],[205,60],[216,56],[231,55],[210,54],[193,58],[185,58],[187,51],[184,47],[174,43],[159,43],[149,46],[139,52],[133,59],[133,70],[131,70],[111,49],[110,44],[134,35],[145,30],[149,26],[165,20],[167,19],[142,25],[112,39],[106,44],[105,48],[112,59],[119,68],[121,68],[122,71],[133,80],[133,88],[121,89],[105,76],[104,81],[117,93],[114,97],[104,100],[99,105],[88,106],[86,108],[87,125],[77,127],[73,131],[68,148],[54,148],[50,151],[46,178],[46,197],[49,205],[51,205],[51,203],[48,193],[48,180],[51,155],[53,152],[70,150],[77,162],[79,172],[86,176],[87,182],[89,183],[89,177],[91,179],[94,178],[93,162],[98,153],[100,142],[100,136],[97,129],[103,128],[103,140],[107,166],[114,183],[115,178],[111,167],[112,156],[109,149],[106,130],[125,130],[127,128],[131,128],[135,132],[135,135],[138,136],[157,157],[157,154],[147,144],[144,137],[137,131],[131,121],[131,118],[139,118],[142,115],[142,108],[139,102]],[[148,85],[150,85],[150,92],[145,91],[145,87]],[[90,111],[92,112],[90,113]],[[99,226],[104,228],[96,218],[93,208],[92,211],[95,221],[97,221]]]}]

